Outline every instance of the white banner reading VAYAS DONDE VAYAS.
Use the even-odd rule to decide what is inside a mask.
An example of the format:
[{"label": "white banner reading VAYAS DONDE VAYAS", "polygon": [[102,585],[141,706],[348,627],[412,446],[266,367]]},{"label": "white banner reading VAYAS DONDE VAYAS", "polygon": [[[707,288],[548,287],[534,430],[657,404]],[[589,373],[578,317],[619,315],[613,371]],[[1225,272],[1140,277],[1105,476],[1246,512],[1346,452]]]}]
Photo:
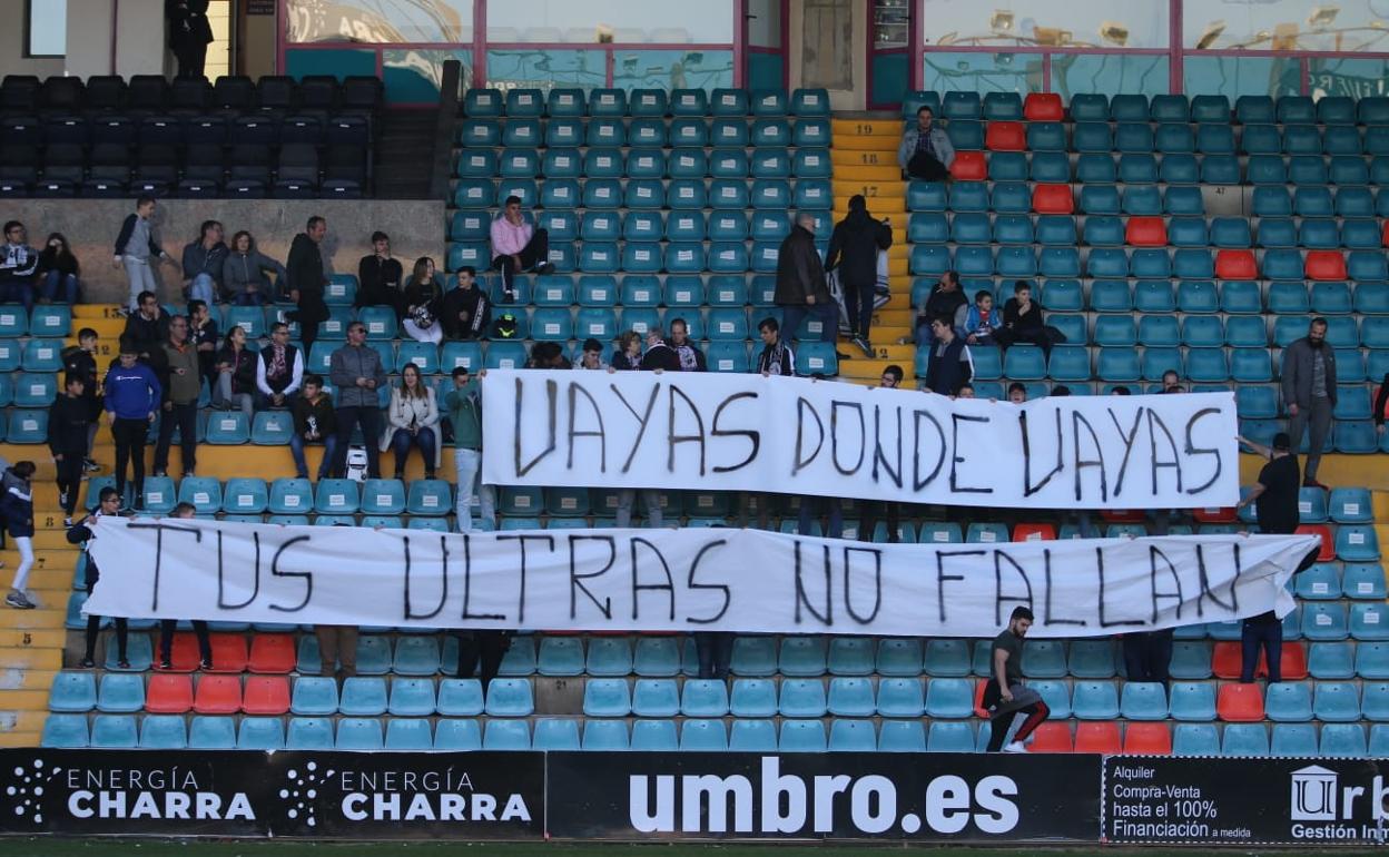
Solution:
[{"label": "white banner reading VAYAS DONDE VAYAS", "polygon": [[482,394],[492,485],[1011,508],[1239,501],[1233,393],[1015,406],[756,374],[499,369]]}]

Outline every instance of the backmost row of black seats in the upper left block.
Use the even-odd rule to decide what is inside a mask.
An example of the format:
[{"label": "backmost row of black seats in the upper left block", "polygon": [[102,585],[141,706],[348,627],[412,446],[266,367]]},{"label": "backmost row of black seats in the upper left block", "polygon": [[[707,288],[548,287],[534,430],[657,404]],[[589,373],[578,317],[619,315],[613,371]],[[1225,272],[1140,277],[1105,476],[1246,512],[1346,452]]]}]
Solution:
[{"label": "backmost row of black seats in the upper left block", "polygon": [[310,114],[372,113],[381,107],[382,82],[375,75],[350,75],[342,82],[332,75],[306,75],[296,81],[265,75],[251,81],[228,75],[208,83],[206,78],[164,75],[54,75],[39,81],[33,75],[6,75],[0,82],[0,114],[81,115],[144,114],[264,114],[293,111]]}]

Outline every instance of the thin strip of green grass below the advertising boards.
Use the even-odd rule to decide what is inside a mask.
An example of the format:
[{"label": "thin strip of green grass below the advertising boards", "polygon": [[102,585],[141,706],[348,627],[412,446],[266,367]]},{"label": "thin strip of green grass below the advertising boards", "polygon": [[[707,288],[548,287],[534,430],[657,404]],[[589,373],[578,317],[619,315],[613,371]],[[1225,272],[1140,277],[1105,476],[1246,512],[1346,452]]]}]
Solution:
[{"label": "thin strip of green grass below the advertising boards", "polygon": [[[1333,853],[1335,857],[1383,857],[1383,851],[1346,850],[1340,847],[1297,850],[1221,849],[1229,857],[1292,857],[1307,851]],[[888,844],[617,844],[617,843],[468,843],[468,842],[228,842],[204,839],[0,839],[0,857],[458,857],[472,851],[478,857],[858,857],[865,851],[911,851],[922,857],[1193,857],[1199,849],[1160,850],[1140,847],[972,849],[964,846]],[[1208,851],[1207,851],[1208,853]]]}]

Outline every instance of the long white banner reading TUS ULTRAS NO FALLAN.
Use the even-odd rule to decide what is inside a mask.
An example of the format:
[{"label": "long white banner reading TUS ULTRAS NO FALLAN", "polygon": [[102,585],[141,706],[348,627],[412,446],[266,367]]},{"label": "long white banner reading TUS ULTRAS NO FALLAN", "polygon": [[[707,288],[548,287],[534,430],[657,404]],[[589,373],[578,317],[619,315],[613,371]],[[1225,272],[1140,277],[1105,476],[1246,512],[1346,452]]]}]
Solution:
[{"label": "long white banner reading TUS ULTRAS NO FALLAN", "polygon": [[106,517],[96,615],[540,631],[1035,636],[1286,614],[1315,536],[871,544],[753,529],[453,535]]}]

